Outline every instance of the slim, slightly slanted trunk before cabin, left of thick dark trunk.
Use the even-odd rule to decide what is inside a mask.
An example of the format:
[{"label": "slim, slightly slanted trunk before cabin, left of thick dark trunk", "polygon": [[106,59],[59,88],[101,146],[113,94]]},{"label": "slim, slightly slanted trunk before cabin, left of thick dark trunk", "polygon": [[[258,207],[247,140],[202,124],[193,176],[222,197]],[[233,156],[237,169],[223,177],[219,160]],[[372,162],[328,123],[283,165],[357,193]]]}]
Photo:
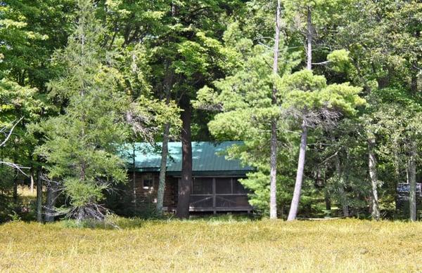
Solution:
[{"label": "slim, slightly slanted trunk before cabin, left of thick dark trunk", "polygon": [[167,168],[167,154],[169,153],[169,135],[170,135],[170,124],[165,124],[164,133],[162,135],[162,150],[161,150],[161,164],[160,164],[160,176],[158,178],[158,191],[157,191],[157,213],[162,215],[162,206],[164,203],[164,191],[165,191],[165,173]]}]

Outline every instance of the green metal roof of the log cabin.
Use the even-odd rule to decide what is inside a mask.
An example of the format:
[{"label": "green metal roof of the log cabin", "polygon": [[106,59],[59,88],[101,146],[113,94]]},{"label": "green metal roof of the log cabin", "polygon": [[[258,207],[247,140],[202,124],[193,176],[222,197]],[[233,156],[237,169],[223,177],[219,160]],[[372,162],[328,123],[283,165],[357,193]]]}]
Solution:
[{"label": "green metal roof of the log cabin", "polygon": [[[248,166],[242,166],[236,159],[226,159],[224,151],[232,145],[243,145],[243,142],[192,142],[193,173],[245,174],[252,171]],[[160,171],[162,143],[151,145],[146,142],[127,145],[124,154],[129,168],[136,171]],[[135,157],[134,157],[135,156]],[[133,162],[135,159],[135,162]],[[167,173],[181,172],[181,142],[169,142],[167,157]]]}]

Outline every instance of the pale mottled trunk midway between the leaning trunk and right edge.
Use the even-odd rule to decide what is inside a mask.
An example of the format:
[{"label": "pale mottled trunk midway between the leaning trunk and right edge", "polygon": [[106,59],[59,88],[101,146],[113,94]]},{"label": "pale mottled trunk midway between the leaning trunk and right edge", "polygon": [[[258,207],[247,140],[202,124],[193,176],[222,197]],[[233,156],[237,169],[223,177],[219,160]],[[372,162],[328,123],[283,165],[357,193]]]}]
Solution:
[{"label": "pale mottled trunk midway between the leaning trunk and right edge", "polygon": [[371,178],[371,215],[373,220],[380,220],[380,208],[378,205],[378,175],[376,173],[376,157],[373,149],[375,148],[375,139],[368,140],[368,154],[369,154],[369,178]]}]

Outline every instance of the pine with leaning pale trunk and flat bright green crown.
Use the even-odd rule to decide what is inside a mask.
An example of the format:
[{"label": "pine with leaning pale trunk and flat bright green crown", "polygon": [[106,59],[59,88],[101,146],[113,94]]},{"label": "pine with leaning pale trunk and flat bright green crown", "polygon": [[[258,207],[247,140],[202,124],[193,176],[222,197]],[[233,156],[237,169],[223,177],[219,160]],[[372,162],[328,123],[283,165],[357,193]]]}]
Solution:
[{"label": "pine with leaning pale trunk and flat bright green crown", "polygon": [[287,75],[281,85],[281,90],[286,91],[284,107],[300,120],[302,130],[298,172],[288,215],[288,220],[295,220],[302,189],[307,128],[335,126],[340,115],[355,114],[355,107],[363,105],[364,100],[358,95],[361,88],[349,84],[327,85],[324,76],[314,75],[309,69]]}]

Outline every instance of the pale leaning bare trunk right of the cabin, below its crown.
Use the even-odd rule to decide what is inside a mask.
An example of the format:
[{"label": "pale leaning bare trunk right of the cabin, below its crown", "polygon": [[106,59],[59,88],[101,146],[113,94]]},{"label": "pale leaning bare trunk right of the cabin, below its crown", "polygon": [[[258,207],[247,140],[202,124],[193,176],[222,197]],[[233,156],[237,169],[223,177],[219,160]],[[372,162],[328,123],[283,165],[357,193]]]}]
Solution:
[{"label": "pale leaning bare trunk right of the cabin, below its crown", "polygon": [[290,204],[290,211],[288,213],[288,221],[295,220],[298,215],[300,191],[302,190],[303,170],[305,168],[306,142],[307,142],[308,128],[305,122],[302,123],[302,133],[300,134],[300,150],[298,159],[298,172],[296,173],[295,190],[293,191],[293,199]]}]

